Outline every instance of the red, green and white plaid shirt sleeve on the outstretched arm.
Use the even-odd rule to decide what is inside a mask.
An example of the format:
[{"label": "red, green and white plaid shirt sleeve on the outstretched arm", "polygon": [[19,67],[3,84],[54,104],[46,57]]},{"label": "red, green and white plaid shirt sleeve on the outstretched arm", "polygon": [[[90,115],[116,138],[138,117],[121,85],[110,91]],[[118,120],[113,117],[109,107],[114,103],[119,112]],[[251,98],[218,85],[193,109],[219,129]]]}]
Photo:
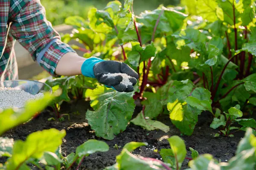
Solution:
[{"label": "red, green and white plaid shirt sleeve on the outstretched arm", "polygon": [[11,0],[11,34],[26,48],[34,61],[37,61],[53,77],[61,57],[75,51],[61,42],[60,35],[52,28],[45,17],[45,9],[40,0]]}]

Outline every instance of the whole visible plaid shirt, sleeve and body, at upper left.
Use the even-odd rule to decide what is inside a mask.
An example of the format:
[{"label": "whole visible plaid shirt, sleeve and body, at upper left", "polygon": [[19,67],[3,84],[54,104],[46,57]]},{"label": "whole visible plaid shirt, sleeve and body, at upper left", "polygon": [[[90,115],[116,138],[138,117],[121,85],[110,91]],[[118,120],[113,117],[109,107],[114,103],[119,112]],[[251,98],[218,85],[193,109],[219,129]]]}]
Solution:
[{"label": "whole visible plaid shirt, sleeve and body, at upper left", "polygon": [[0,0],[0,81],[18,79],[15,40],[53,77],[61,57],[75,52],[61,42],[40,0]]}]

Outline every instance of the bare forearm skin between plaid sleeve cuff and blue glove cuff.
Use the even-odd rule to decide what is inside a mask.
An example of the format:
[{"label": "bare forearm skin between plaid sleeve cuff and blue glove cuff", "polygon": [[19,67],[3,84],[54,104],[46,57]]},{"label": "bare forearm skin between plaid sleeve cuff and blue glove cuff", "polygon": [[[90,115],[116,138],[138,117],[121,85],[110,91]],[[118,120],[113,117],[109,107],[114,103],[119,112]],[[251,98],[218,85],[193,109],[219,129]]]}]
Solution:
[{"label": "bare forearm skin between plaid sleeve cuff and blue glove cuff", "polygon": [[76,53],[67,53],[58,62],[55,74],[59,76],[75,76],[81,74],[81,65],[86,58],[78,56]]}]

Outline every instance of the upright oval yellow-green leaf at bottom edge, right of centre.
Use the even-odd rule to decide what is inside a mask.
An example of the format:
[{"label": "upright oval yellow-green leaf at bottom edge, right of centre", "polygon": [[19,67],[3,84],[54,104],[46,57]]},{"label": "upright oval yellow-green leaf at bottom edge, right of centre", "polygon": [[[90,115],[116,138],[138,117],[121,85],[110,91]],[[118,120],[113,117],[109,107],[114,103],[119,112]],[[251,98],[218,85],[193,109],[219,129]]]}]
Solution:
[{"label": "upright oval yellow-green leaf at bottom edge, right of centre", "polygon": [[[179,137],[179,136],[172,136],[170,138],[167,139],[172,152],[175,156],[175,162],[178,163],[178,168],[176,167],[176,169],[180,169],[181,164],[183,163],[185,157],[186,157],[186,145],[184,143],[184,141]],[[175,164],[176,166],[176,164]]]}]

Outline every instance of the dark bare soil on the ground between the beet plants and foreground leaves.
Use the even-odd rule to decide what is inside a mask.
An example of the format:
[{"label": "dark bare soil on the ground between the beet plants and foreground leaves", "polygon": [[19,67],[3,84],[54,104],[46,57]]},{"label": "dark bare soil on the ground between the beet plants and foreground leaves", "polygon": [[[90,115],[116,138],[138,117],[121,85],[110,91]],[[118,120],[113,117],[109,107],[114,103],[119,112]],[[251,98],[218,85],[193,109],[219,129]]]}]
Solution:
[{"label": "dark bare soil on the ground between the beet plants and foreground leaves", "polygon": [[[70,121],[65,119],[63,122],[58,121],[47,121],[48,118],[54,117],[53,113],[49,111],[44,111],[36,119],[20,125],[12,130],[9,130],[4,134],[4,136],[13,138],[15,140],[21,139],[25,140],[26,136],[30,133],[56,128],[58,130],[65,129],[67,135],[63,139],[62,144],[62,154],[67,156],[71,152],[76,151],[76,147],[83,144],[88,139],[97,139],[105,141],[109,146],[110,150],[105,153],[94,153],[86,157],[82,163],[81,170],[102,170],[104,167],[111,166],[115,163],[116,156],[120,153],[121,149],[117,150],[113,148],[115,144],[124,146],[126,143],[135,142],[148,142],[148,146],[140,147],[140,149],[135,150],[133,153],[137,156],[151,157],[160,159],[159,153],[154,153],[152,150],[147,150],[147,148],[152,148],[156,146],[158,150],[162,148],[169,148],[169,143],[166,138],[178,135],[180,136],[179,130],[172,125],[168,115],[159,116],[157,119],[166,125],[170,126],[170,131],[164,133],[160,130],[147,131],[143,130],[141,127],[135,125],[128,125],[127,129],[117,135],[115,139],[111,141],[106,141],[95,136],[93,130],[85,120],[85,113],[87,108],[90,108],[89,102],[78,101],[72,104],[64,103],[61,105],[61,113],[69,113]],[[140,112],[140,108],[136,108],[134,116]],[[79,113],[79,114],[78,114]],[[65,117],[66,118],[66,117]],[[199,154],[209,153],[212,154],[217,160],[226,161],[232,158],[236,153],[236,147],[239,143],[241,137],[244,136],[244,132],[235,133],[235,137],[218,137],[214,138],[214,134],[217,130],[209,127],[212,121],[212,116],[210,113],[202,113],[199,116],[198,124],[195,127],[195,131],[192,136],[180,136],[184,139],[187,148],[187,157],[191,157],[191,152],[189,147],[197,150]],[[6,159],[0,158],[0,163],[4,163]],[[189,160],[185,160],[182,166],[182,170],[187,168]]]}]

